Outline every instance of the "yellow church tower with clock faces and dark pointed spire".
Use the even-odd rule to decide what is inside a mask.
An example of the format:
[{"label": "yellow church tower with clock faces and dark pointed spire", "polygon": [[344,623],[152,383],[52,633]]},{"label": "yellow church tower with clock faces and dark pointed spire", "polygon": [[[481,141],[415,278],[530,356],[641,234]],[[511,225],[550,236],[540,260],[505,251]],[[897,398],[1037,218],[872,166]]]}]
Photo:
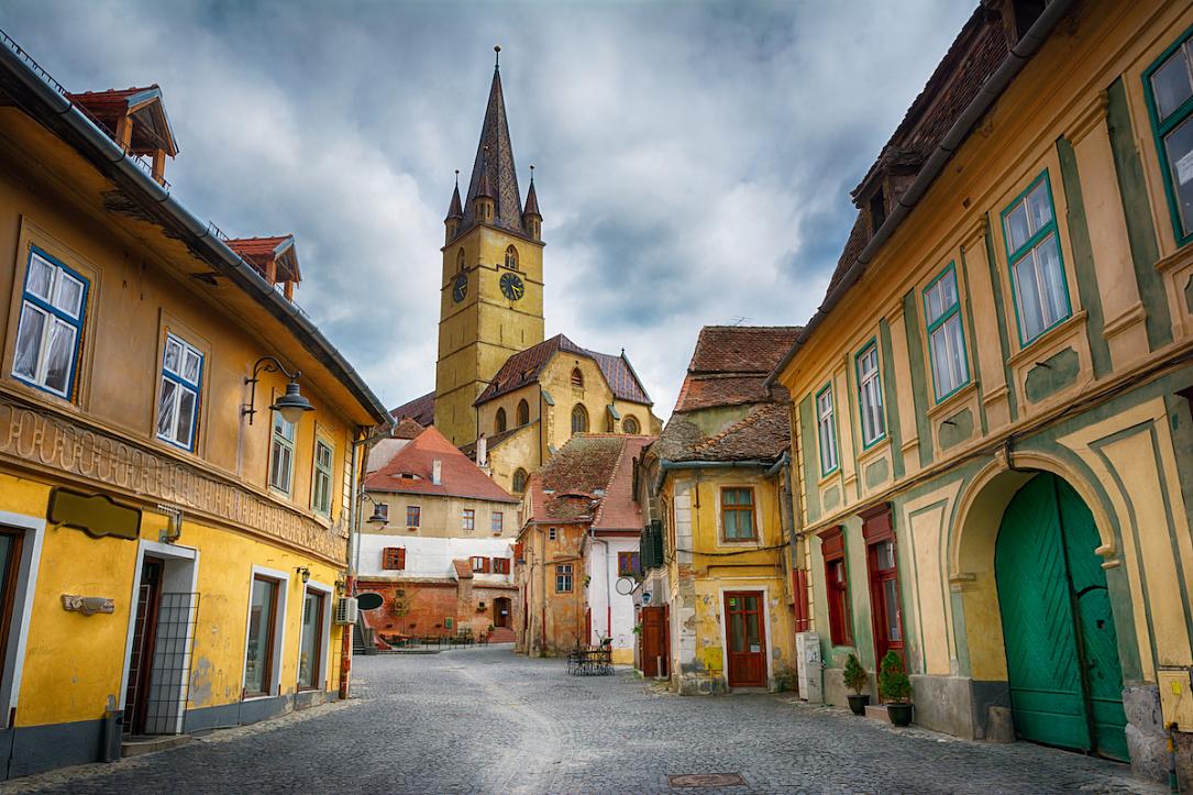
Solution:
[{"label": "yellow church tower with clock faces and dark pointed spire", "polygon": [[506,359],[543,341],[542,221],[533,171],[523,209],[497,62],[468,195],[457,173],[444,218],[434,421],[452,444],[476,439],[472,402]]}]

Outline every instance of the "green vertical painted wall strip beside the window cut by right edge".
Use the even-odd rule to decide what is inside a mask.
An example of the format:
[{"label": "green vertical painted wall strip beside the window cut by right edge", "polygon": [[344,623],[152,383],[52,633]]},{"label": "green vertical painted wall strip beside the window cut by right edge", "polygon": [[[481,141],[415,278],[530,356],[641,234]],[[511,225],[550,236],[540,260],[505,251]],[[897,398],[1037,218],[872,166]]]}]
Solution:
[{"label": "green vertical painted wall strip beside the window cut by right edge", "polygon": [[[1146,86],[1144,88],[1146,90]],[[1123,82],[1123,78],[1111,84],[1106,92],[1106,127],[1111,135],[1114,173],[1118,175],[1119,192],[1123,196],[1123,215],[1126,220],[1127,242],[1131,245],[1131,261],[1135,264],[1139,297],[1143,298],[1143,306],[1148,310],[1144,318],[1148,344],[1151,350],[1156,350],[1173,341],[1173,321],[1168,313],[1164,282],[1156,271],[1156,263],[1160,261],[1160,244],[1156,240],[1156,226],[1152,218],[1151,202],[1148,198],[1148,183],[1143,175],[1143,159],[1135,147],[1131,109],[1127,106],[1126,85]],[[1152,112],[1151,106],[1152,103],[1149,100],[1149,113]],[[1160,156],[1163,158],[1163,146],[1158,138],[1156,146]],[[1167,164],[1164,173],[1169,173]],[[1167,177],[1164,185],[1166,190],[1170,190]]]}]

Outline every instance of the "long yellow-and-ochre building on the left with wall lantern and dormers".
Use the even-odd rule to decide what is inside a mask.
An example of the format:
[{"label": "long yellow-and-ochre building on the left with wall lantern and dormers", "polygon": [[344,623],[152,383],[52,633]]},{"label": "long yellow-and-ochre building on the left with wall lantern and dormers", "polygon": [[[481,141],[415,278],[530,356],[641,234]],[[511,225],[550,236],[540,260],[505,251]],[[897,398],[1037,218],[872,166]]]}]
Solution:
[{"label": "long yellow-and-ochre building on the left with wall lantern and dormers", "polygon": [[67,94],[2,44],[5,775],[335,697],[384,408],[292,303],[292,238],[227,240],[169,192],[155,86]]}]

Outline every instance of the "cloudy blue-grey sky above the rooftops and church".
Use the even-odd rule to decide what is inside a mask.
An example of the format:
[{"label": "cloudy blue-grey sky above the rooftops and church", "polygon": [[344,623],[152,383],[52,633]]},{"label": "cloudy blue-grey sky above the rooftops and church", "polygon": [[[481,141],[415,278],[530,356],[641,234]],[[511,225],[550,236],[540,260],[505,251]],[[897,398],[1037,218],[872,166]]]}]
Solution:
[{"label": "cloudy blue-grey sky above the rooftops and church", "polygon": [[975,6],[8,0],[0,27],[72,91],[160,84],[175,196],[293,232],[298,302],[389,406],[434,387],[443,217],[501,44],[546,333],[624,346],[666,418],[700,326],[811,315],[849,189]]}]

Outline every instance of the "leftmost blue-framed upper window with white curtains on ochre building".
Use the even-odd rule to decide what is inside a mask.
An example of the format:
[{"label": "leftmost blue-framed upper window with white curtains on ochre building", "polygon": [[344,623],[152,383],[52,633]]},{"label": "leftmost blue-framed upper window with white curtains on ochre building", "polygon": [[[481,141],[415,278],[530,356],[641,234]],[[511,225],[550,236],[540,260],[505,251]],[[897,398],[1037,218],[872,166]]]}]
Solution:
[{"label": "leftmost blue-framed upper window with white curtains on ochre building", "polygon": [[49,254],[31,248],[17,325],[12,374],[66,398],[74,394],[88,282]]}]

